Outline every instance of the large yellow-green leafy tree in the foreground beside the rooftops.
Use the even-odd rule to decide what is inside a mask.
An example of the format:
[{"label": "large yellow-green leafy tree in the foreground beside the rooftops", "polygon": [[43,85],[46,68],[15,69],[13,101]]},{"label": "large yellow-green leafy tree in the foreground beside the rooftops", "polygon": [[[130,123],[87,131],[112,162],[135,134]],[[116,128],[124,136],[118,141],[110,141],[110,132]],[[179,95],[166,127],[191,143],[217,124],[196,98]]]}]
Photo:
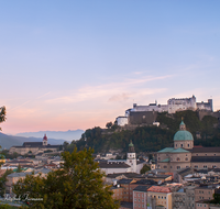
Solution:
[{"label": "large yellow-green leafy tree in the foreground beside the rooftops", "polygon": [[28,175],[14,185],[13,193],[25,198],[40,198],[41,201],[30,201],[30,208],[119,208],[112,198],[109,186],[102,182],[103,173],[91,156],[92,150],[70,154],[62,153],[64,164],[57,170],[48,173],[47,177]]}]

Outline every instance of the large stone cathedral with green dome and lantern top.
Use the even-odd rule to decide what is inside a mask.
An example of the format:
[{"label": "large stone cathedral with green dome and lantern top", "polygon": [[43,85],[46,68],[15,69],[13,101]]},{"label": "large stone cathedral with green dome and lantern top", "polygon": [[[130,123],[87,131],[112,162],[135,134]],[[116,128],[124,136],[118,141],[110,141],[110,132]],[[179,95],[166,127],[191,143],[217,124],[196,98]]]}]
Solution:
[{"label": "large stone cathedral with green dome and lantern top", "polygon": [[165,147],[157,152],[157,167],[168,172],[188,167],[220,167],[220,147],[194,146],[194,136],[182,121],[179,131],[174,135],[174,147]]}]

